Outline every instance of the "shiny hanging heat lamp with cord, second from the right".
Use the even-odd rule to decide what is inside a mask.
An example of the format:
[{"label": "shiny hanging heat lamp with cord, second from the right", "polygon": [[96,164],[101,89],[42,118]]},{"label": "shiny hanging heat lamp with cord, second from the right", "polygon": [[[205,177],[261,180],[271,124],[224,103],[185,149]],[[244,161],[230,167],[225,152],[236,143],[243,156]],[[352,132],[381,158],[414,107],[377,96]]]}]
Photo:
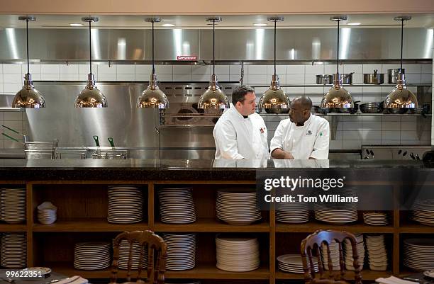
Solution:
[{"label": "shiny hanging heat lamp with cord, second from the right", "polygon": [[339,23],[346,21],[347,16],[331,17],[330,21],[338,22],[338,52],[336,59],[336,74],[333,79],[333,86],[325,93],[321,100],[321,108],[353,108],[352,96],[343,88],[342,76],[339,74]]}]

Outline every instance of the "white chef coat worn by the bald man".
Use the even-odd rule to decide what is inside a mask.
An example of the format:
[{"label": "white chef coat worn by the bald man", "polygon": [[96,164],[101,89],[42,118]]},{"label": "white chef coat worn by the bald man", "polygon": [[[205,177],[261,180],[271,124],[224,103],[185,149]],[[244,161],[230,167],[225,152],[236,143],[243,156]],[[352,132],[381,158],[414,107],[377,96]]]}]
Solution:
[{"label": "white chef coat worn by the bald man", "polygon": [[294,156],[294,159],[328,159],[330,126],[328,121],[312,115],[303,126],[296,126],[291,120],[281,120],[274,132],[269,148],[283,149]]}]

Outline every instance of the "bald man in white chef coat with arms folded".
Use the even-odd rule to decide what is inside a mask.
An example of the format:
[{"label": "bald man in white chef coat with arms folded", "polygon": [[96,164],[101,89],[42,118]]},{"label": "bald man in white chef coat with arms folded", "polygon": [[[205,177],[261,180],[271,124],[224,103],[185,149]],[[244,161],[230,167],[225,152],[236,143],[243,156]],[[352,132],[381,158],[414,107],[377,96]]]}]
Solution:
[{"label": "bald man in white chef coat with arms folded", "polygon": [[280,121],[270,142],[274,159],[328,159],[330,126],[311,108],[307,96],[291,101],[289,118]]}]

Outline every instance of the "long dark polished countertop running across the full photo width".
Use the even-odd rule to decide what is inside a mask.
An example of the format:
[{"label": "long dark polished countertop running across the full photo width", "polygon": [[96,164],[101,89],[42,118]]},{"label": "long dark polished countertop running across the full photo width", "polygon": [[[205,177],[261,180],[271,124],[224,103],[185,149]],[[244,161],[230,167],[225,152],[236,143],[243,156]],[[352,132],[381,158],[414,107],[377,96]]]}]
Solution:
[{"label": "long dark polished countertop running across the full photo width", "polygon": [[[382,180],[429,173],[434,166],[413,160],[169,160],[169,159],[0,159],[2,181],[214,180],[255,181],[258,173],[310,172]],[[434,175],[433,175],[434,176]]]}]

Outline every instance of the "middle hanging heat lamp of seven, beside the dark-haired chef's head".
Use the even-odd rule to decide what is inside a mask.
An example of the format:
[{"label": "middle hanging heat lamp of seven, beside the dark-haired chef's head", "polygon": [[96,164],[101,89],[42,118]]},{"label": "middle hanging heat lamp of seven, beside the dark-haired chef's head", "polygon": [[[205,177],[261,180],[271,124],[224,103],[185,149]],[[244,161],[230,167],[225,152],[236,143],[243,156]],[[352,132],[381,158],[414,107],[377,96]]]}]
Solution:
[{"label": "middle hanging heat lamp of seven, beside the dark-haired chef's head", "polygon": [[221,91],[218,86],[217,76],[216,76],[216,22],[221,22],[221,17],[207,18],[206,21],[213,22],[213,74],[211,75],[211,82],[205,93],[202,94],[197,103],[198,108],[213,108],[213,109],[224,109],[229,108],[228,97]]}]

